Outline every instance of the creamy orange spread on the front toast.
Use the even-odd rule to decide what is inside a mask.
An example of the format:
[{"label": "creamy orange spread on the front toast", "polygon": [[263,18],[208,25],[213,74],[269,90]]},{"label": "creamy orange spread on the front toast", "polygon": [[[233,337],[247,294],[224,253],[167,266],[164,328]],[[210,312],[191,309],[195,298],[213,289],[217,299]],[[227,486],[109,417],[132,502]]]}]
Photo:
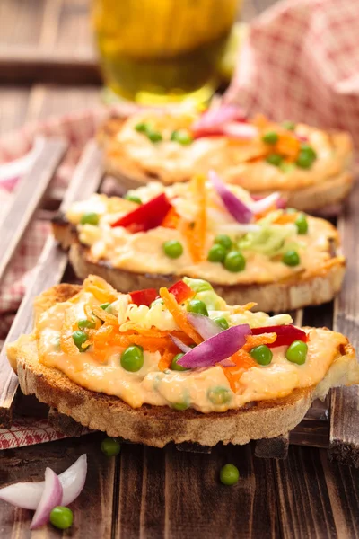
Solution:
[{"label": "creamy orange spread on the front toast", "polygon": [[[119,302],[119,303],[118,303]],[[116,312],[121,323],[126,322],[129,296],[118,295]],[[89,351],[75,356],[66,355],[60,348],[60,331],[67,312],[84,317],[84,304],[99,305],[100,302],[89,292],[81,292],[76,298],[52,306],[40,315],[36,326],[39,360],[47,367],[56,367],[75,384],[97,393],[114,395],[127,402],[133,408],[144,403],[158,406],[183,408],[192,407],[197,411],[226,411],[241,408],[248,402],[283,397],[295,388],[318,384],[326,375],[333,360],[338,356],[338,347],[346,343],[339,333],[325,330],[311,330],[308,341],[308,355],[304,365],[290,363],[285,358],[286,347],[272,349],[273,360],[267,367],[251,367],[240,379],[237,393],[233,393],[223,368],[216,365],[187,371],[163,372],[158,367],[161,359],[159,352],[144,351],[144,366],[137,372],[128,372],[120,365],[123,349],[108,350],[106,360],[101,362]],[[133,307],[130,310],[134,310]],[[136,310],[136,309],[135,309]],[[269,317],[264,313],[231,314],[231,307],[226,306],[227,319],[233,323],[250,323],[251,327],[290,323],[289,315]],[[151,323],[152,309],[147,309],[147,324]],[[210,311],[210,316],[218,314]],[[158,312],[154,319],[160,321],[156,326],[169,324],[162,321]],[[171,316],[171,315],[170,315]],[[120,324],[119,331],[126,326]],[[163,326],[162,326],[163,327]],[[171,329],[176,328],[174,321]],[[225,394],[224,402],[217,402],[218,390]]]}]

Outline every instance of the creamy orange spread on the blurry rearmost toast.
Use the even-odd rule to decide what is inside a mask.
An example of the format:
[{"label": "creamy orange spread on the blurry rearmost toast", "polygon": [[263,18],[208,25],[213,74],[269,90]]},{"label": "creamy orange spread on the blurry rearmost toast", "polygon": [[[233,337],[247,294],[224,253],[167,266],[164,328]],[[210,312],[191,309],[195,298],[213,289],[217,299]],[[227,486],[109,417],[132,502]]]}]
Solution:
[{"label": "creamy orange spread on the blurry rearmost toast", "polygon": [[[346,133],[337,133],[335,139],[326,131],[298,124],[295,133],[305,137],[317,154],[311,169],[289,167],[282,171],[266,163],[266,146],[260,136],[250,141],[228,137],[197,138],[188,146],[170,140],[175,129],[189,129],[196,115],[189,113],[157,113],[144,111],[131,116],[118,131],[110,152],[120,161],[136,166],[140,171],[152,172],[164,183],[186,181],[194,173],[215,169],[224,181],[241,185],[251,192],[267,190],[297,190],[337,176],[347,170],[352,161],[352,143]],[[153,144],[135,126],[147,123],[162,133],[162,142]],[[275,130],[276,124],[268,124]],[[131,167],[130,167],[131,168]]]}]

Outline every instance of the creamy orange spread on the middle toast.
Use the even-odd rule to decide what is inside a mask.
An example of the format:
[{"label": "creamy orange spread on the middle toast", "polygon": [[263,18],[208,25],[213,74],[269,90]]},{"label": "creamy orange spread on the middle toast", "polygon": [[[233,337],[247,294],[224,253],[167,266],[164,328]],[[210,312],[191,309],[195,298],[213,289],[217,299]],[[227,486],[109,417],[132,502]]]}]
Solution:
[{"label": "creamy orange spread on the middle toast", "polygon": [[[245,229],[235,222],[232,216],[223,208],[215,191],[207,184],[207,229],[206,252],[213,245],[217,234],[230,235],[233,242],[245,237]],[[245,203],[253,203],[247,191],[238,186],[231,186],[232,192]],[[163,187],[159,182],[152,182],[146,187],[131,191],[143,202],[146,202],[165,191],[167,197],[177,213],[190,221],[197,212],[195,197],[188,184],[177,183],[171,187]],[[77,226],[80,242],[90,249],[92,261],[106,260],[118,269],[139,273],[188,275],[192,278],[205,278],[211,282],[223,285],[235,284],[265,284],[277,282],[282,279],[301,273],[302,278],[309,278],[325,267],[330,259],[329,242],[338,243],[337,231],[328,221],[307,216],[308,233],[298,234],[296,225],[271,225],[276,232],[281,245],[277,256],[268,256],[245,248],[242,251],[246,259],[244,270],[231,272],[223,264],[211,261],[194,263],[188,252],[188,245],[180,231],[172,228],[158,226],[147,232],[132,234],[127,229],[117,226],[112,228],[111,223],[120,216],[126,215],[137,205],[126,199],[116,197],[107,198],[105,195],[92,195],[88,200],[74,203],[66,213],[67,219]],[[273,220],[281,215],[283,210],[272,212]],[[81,216],[85,212],[94,212],[100,216],[100,223],[94,225],[81,225]],[[266,218],[267,220],[267,218]],[[254,227],[260,229],[265,226],[258,221]],[[163,243],[169,240],[178,240],[183,246],[183,254],[175,260],[163,252]],[[283,240],[283,241],[282,241]],[[287,266],[282,262],[283,252],[294,249],[300,255],[300,264],[295,267]],[[282,253],[282,254],[280,254]]]}]

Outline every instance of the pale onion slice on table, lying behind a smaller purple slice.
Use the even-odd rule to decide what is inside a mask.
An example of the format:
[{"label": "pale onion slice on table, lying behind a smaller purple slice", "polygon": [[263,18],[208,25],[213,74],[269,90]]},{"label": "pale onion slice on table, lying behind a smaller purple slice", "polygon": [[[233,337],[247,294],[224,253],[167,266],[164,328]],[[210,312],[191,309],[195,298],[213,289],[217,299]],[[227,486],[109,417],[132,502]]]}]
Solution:
[{"label": "pale onion slice on table, lying behind a smaller purple slice", "polygon": [[[87,456],[81,455],[67,470],[60,473],[59,481],[63,487],[61,505],[68,505],[83,490],[87,474]],[[39,506],[45,482],[18,482],[0,489],[0,499],[17,508],[33,509]]]}]

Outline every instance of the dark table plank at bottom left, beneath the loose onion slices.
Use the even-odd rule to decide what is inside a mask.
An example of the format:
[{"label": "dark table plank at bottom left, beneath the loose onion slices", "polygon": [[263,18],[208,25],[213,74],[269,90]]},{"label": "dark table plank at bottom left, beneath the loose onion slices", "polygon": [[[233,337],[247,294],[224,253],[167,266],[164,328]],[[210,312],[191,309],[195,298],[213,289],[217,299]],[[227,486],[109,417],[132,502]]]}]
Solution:
[{"label": "dark table plank at bottom left, beneath the loose onion slices", "polygon": [[43,481],[47,466],[56,473],[61,473],[83,453],[87,454],[88,473],[83,492],[70,505],[74,511],[74,525],[71,530],[62,535],[56,528],[48,525],[31,534],[29,526],[32,511],[13,508],[0,501],[1,537],[55,539],[64,536],[110,539],[117,460],[102,455],[102,437],[101,434],[95,434],[81,439],[66,439],[4,451],[0,459],[1,485],[19,481]]}]

